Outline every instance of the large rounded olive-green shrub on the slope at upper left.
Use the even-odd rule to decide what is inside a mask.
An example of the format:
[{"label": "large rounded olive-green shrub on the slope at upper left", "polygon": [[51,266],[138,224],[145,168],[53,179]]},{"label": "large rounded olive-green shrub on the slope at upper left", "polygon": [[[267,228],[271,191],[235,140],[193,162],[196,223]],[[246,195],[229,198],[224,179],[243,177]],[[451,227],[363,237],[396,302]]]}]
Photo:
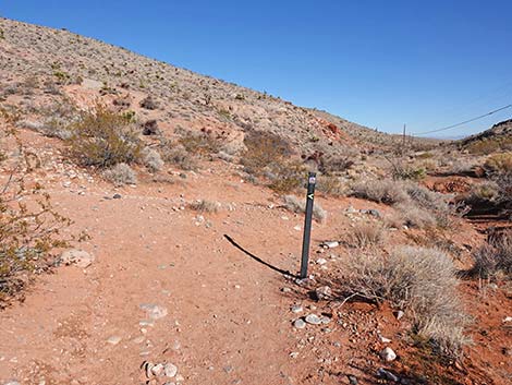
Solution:
[{"label": "large rounded olive-green shrub on the slope at upper left", "polygon": [[70,125],[70,157],[81,166],[109,168],[139,159],[142,145],[133,125],[119,113],[96,105]]}]

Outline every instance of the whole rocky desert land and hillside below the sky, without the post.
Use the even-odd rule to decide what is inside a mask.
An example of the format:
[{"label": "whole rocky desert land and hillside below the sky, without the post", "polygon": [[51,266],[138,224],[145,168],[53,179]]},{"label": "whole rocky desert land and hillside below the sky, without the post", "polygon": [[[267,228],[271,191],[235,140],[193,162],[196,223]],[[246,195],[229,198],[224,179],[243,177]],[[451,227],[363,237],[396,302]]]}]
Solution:
[{"label": "whole rocky desert land and hillside below the sky, without the post", "polygon": [[512,381],[510,121],[404,139],[0,19],[0,384]]}]

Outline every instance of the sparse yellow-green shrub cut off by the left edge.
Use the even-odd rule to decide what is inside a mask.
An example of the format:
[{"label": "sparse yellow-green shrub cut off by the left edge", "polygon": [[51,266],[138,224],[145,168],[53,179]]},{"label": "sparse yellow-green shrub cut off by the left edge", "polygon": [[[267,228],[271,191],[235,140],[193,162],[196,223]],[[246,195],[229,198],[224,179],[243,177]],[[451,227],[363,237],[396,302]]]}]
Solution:
[{"label": "sparse yellow-green shrub cut off by the left edge", "polygon": [[[20,153],[24,149],[20,146]],[[53,207],[39,184],[28,188],[25,157],[0,187],[0,308],[22,290],[34,274],[58,263],[57,252],[78,237],[63,237],[72,222]]]}]

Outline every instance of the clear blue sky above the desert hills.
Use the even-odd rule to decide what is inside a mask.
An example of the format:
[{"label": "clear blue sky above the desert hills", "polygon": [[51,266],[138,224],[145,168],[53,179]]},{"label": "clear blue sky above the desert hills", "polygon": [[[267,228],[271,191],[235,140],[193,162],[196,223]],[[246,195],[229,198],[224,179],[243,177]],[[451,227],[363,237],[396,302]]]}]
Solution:
[{"label": "clear blue sky above the desert hills", "polygon": [[[512,104],[511,0],[2,0],[0,14],[388,132]],[[442,135],[509,118],[512,109]]]}]

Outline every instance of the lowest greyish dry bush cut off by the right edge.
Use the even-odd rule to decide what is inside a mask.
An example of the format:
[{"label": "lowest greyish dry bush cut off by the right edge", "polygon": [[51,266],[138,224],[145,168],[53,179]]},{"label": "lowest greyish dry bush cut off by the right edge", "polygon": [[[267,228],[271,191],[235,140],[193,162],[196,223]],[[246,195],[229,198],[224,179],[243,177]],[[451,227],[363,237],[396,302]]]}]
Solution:
[{"label": "lowest greyish dry bush cut off by the right edge", "polygon": [[512,277],[512,230],[493,237],[473,253],[474,265],[468,272],[479,278]]}]

